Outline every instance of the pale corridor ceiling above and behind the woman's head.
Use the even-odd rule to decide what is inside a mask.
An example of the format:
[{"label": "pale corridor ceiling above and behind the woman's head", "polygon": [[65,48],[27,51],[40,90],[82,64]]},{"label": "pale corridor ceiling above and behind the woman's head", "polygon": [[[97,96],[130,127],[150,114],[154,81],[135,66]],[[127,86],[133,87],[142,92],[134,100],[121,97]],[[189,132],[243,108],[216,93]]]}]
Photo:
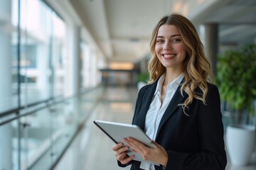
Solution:
[{"label": "pale corridor ceiling above and behind the woman's head", "polygon": [[219,23],[223,45],[256,41],[255,0],[68,0],[109,62],[137,62],[149,54],[155,24],[178,12],[199,26]]}]

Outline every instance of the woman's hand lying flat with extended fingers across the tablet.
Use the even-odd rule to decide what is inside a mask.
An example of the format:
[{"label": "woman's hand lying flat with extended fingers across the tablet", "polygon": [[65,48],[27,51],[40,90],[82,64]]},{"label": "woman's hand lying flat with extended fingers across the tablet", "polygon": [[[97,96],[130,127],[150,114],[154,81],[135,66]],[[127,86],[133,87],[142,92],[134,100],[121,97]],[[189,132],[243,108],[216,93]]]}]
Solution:
[{"label": "woman's hand lying flat with extended fingers across the tablet", "polygon": [[156,148],[147,147],[142,142],[135,140],[132,137],[124,138],[129,147],[132,147],[132,151],[137,152],[146,161],[156,162],[161,165],[166,165],[168,161],[168,154],[164,147],[154,142]]}]

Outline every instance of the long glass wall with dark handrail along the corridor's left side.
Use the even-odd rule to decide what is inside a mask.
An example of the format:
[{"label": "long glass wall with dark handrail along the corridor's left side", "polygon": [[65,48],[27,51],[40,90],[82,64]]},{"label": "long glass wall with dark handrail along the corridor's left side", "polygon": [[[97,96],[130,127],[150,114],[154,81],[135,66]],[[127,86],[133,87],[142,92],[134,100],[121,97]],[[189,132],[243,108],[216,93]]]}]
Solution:
[{"label": "long glass wall with dark handrail along the corridor's left side", "polygon": [[[100,84],[103,59],[89,44],[70,57],[70,24],[45,1],[0,0],[0,169],[49,169],[101,94],[85,90]],[[76,76],[85,93],[67,96]]]}]

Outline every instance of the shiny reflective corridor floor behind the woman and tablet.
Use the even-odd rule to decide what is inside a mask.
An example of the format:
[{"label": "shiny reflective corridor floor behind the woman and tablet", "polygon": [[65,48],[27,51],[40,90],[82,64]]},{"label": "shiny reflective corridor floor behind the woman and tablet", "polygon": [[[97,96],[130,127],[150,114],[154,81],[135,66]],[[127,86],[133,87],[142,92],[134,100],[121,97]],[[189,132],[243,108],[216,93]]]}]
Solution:
[{"label": "shiny reflective corridor floor behind the woman and tablet", "polygon": [[[73,144],[64,154],[55,170],[117,170],[117,161],[112,152],[114,142],[103,134],[93,120],[110,120],[120,123],[131,123],[134,103],[137,96],[136,88],[125,86],[105,89],[102,100],[75,138]],[[226,170],[255,170],[256,154],[248,166],[231,166],[228,162]]]}]

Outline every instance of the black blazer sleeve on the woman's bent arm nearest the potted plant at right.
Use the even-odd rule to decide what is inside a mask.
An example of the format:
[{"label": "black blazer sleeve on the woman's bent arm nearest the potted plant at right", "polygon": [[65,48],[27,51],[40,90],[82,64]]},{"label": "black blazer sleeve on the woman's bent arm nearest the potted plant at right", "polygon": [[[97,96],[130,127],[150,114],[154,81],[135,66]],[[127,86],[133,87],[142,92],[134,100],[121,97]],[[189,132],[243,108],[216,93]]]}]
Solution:
[{"label": "black blazer sleeve on the woman's bent arm nearest the potted plant at right", "polygon": [[[200,102],[198,132],[200,152],[183,153],[167,150],[169,160],[166,169],[224,170],[227,164],[223,140],[223,122],[220,112],[220,96],[216,86],[208,86],[206,104]],[[189,142],[189,141],[187,141]]]}]

